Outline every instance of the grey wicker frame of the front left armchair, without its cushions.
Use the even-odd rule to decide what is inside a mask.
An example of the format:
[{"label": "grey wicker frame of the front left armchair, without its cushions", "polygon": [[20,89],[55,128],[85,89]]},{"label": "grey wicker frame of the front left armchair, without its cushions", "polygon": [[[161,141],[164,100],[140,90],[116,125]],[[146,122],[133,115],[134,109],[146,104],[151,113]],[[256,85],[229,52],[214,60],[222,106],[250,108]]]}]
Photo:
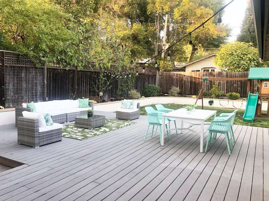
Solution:
[{"label": "grey wicker frame of the front left armchair, without its cushions", "polygon": [[38,148],[41,145],[62,140],[62,128],[39,132],[38,119],[18,117],[18,144]]}]

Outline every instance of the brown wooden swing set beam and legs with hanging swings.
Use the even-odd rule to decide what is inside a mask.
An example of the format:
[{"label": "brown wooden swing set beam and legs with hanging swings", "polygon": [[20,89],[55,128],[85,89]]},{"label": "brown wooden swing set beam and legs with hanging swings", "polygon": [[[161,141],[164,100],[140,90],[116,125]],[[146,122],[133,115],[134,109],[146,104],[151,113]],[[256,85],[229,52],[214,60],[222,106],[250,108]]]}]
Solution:
[{"label": "brown wooden swing set beam and legs with hanging swings", "polygon": [[[204,91],[204,85],[205,85],[205,82],[206,81],[238,81],[238,80],[247,80],[247,77],[231,77],[231,78],[228,78],[228,77],[207,77],[207,78],[204,78],[203,79],[203,82],[202,82],[202,88],[200,90],[200,93],[198,94],[197,98],[196,98],[196,101],[195,101],[195,105],[197,103],[197,101],[199,99],[202,99],[202,109],[204,109],[204,101],[203,101],[203,91]],[[214,101],[213,100],[209,100],[208,101],[208,104],[209,105],[213,105],[214,104]],[[221,105],[222,107],[226,107],[227,105],[229,105],[229,100],[227,102],[227,105],[222,105],[221,104],[221,101],[219,99],[219,105]],[[233,107],[236,108],[236,109],[239,109],[243,106],[243,100],[242,100],[242,103],[241,103],[241,106],[240,107],[236,107],[233,103]]]}]

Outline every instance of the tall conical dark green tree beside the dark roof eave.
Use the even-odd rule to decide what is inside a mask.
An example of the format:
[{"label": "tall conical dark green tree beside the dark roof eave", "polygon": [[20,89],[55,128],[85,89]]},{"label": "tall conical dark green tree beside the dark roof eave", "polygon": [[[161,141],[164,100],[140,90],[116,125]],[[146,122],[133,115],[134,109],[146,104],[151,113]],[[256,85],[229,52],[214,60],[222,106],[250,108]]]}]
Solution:
[{"label": "tall conical dark green tree beside the dark roof eave", "polygon": [[245,11],[245,16],[241,26],[240,35],[237,36],[237,41],[245,43],[253,43],[253,46],[257,47],[257,41],[254,29],[254,19],[250,0],[248,1],[247,9]]}]

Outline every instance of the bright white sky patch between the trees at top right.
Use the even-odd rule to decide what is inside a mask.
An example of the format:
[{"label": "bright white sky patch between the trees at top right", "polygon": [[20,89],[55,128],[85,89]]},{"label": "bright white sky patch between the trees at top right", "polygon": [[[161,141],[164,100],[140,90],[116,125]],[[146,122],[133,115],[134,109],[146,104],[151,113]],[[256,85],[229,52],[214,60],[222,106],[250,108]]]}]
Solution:
[{"label": "bright white sky patch between the trees at top right", "polygon": [[[231,0],[225,0],[226,4]],[[232,31],[230,35],[239,35],[240,26],[244,19],[245,9],[247,8],[248,0],[234,0],[230,5],[224,9],[224,15],[222,17],[222,22],[229,25]],[[230,36],[228,38],[229,42],[235,42],[237,36]]]}]

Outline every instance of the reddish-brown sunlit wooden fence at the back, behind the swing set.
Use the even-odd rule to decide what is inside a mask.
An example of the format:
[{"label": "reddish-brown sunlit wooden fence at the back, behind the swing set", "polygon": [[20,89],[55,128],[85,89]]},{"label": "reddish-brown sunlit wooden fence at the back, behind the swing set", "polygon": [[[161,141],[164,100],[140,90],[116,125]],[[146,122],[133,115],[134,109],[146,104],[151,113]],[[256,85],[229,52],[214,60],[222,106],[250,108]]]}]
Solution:
[{"label": "reddish-brown sunlit wooden fence at the back, behind the swing set", "polygon": [[[197,94],[205,77],[248,77],[248,72],[158,72],[158,85],[163,93],[167,93],[172,86],[175,86],[179,87],[181,94]],[[240,96],[247,95],[247,81],[219,81],[218,87],[224,94],[236,92]],[[211,88],[212,82],[207,81],[204,90],[209,91]],[[252,82],[250,88],[251,91],[256,91],[256,80]]]}]

